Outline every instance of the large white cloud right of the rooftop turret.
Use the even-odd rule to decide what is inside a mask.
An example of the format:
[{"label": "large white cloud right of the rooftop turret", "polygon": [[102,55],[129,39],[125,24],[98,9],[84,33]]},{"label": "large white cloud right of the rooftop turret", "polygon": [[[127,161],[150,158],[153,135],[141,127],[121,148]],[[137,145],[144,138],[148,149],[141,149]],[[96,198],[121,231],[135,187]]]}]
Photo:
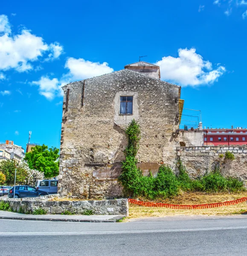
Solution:
[{"label": "large white cloud right of the rooftop turret", "polygon": [[179,49],[177,58],[163,57],[155,64],[160,66],[161,79],[182,86],[212,84],[226,71],[225,67],[220,65],[213,70],[212,63],[204,61],[195,48]]}]

